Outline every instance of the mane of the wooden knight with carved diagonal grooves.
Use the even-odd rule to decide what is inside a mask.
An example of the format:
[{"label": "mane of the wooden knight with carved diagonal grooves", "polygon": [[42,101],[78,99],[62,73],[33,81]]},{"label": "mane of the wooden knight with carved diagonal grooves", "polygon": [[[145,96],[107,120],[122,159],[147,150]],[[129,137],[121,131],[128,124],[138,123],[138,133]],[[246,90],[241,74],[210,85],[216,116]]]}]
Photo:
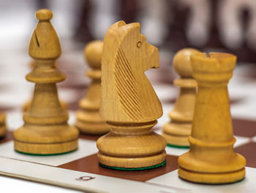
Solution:
[{"label": "mane of the wooden knight with carved diagonal grooves", "polygon": [[124,39],[133,33],[140,34],[140,23],[126,25],[124,21],[120,21],[108,29],[102,53],[102,71],[107,70],[108,77],[102,76],[102,83],[113,84],[105,82],[105,79],[110,77],[113,79],[121,109],[127,113],[130,119],[138,121],[143,117],[143,109],[138,94],[138,82],[122,48]]}]

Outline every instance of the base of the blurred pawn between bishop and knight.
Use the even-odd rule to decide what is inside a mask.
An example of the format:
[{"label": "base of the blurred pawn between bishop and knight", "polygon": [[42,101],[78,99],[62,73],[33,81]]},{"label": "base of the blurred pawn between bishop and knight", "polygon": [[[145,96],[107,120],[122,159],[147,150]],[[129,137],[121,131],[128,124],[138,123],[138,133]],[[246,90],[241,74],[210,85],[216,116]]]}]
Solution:
[{"label": "base of the blurred pawn between bishop and knight", "polygon": [[90,135],[102,135],[110,131],[110,127],[99,117],[97,111],[78,111],[75,127],[78,127],[80,133]]}]

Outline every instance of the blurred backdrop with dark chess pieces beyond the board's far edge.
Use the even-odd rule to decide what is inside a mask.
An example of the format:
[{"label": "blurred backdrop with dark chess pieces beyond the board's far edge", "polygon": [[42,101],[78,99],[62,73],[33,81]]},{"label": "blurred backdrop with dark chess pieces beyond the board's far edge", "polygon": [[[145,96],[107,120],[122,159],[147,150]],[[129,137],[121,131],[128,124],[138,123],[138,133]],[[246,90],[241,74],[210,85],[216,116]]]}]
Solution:
[{"label": "blurred backdrop with dark chess pieces beyond the board's far edge", "polygon": [[255,0],[1,0],[1,46],[29,42],[34,12],[42,8],[53,11],[63,47],[103,39],[110,25],[124,20],[140,22],[148,42],[170,52],[195,47],[256,61]]}]

